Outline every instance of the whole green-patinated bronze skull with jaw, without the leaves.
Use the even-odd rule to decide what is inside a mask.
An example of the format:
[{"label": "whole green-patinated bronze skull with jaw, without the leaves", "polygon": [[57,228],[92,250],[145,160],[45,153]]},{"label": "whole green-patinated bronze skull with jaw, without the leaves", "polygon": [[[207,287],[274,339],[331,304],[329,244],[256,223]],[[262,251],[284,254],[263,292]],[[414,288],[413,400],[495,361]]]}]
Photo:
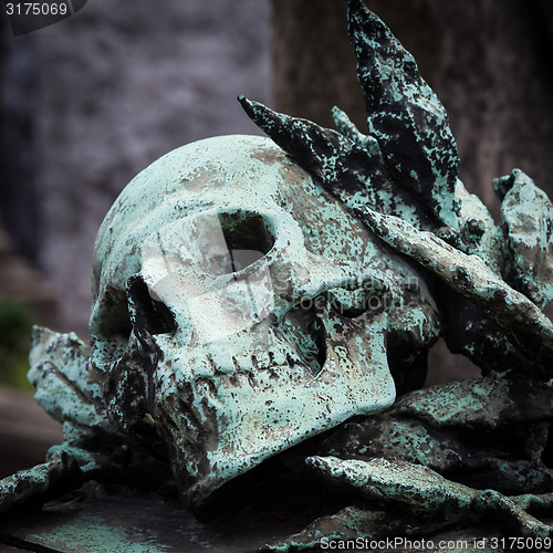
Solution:
[{"label": "whole green-patinated bronze skull with jaw, without the leaves", "polygon": [[[383,249],[267,138],[161,157],[96,240],[91,365],[112,422],[132,431],[152,415],[194,507],[269,456],[388,407],[386,335],[399,319],[384,289],[406,312],[416,273],[396,260],[390,274]],[[396,334],[420,347],[437,333],[428,291],[417,307],[425,316],[404,316]]]}]

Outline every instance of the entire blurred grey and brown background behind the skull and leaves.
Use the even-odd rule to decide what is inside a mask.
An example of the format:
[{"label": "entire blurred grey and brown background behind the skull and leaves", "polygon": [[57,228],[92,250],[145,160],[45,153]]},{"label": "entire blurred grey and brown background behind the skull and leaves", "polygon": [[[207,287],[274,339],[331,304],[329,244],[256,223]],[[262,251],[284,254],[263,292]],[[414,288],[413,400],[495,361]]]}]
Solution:
[{"label": "entire blurred grey and brown background behind the skull and leaves", "polygon": [[[491,179],[514,167],[551,194],[553,2],[367,6],[415,54],[446,105],[467,188],[495,217]],[[2,386],[30,392],[33,323],[86,340],[95,233],[135,174],[199,138],[259,134],[238,94],[326,126],[338,105],[363,131],[345,13],[345,0],[91,0],[75,15],[19,36],[2,14]],[[22,397],[0,389],[0,420],[8,421],[0,450],[13,450],[13,437],[28,431],[23,408],[29,420],[40,413]],[[60,432],[43,424],[39,461]],[[29,434],[41,432],[34,426]],[[15,465],[32,465],[25,447]],[[0,456],[0,476],[12,471],[9,462]]]}]

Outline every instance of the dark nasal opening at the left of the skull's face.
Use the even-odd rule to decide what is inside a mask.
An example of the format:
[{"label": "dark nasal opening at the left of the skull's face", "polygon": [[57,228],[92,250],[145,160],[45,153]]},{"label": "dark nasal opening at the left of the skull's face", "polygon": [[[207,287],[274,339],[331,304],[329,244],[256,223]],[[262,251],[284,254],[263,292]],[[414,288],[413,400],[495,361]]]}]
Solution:
[{"label": "dark nasal opening at the left of the skull's face", "polygon": [[163,302],[152,298],[148,285],[140,278],[134,278],[129,282],[128,301],[133,314],[133,327],[138,338],[155,334],[171,334],[177,330],[173,313]]}]

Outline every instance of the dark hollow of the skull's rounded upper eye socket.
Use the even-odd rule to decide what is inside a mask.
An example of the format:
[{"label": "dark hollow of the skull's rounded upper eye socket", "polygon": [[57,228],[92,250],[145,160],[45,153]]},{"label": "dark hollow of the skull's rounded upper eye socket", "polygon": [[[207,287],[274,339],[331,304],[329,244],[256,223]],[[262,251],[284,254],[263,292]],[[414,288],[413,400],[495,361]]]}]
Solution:
[{"label": "dark hollow of the skull's rounded upper eye socket", "polygon": [[274,237],[259,213],[234,211],[219,213],[222,234],[237,272],[263,258],[274,246]]}]

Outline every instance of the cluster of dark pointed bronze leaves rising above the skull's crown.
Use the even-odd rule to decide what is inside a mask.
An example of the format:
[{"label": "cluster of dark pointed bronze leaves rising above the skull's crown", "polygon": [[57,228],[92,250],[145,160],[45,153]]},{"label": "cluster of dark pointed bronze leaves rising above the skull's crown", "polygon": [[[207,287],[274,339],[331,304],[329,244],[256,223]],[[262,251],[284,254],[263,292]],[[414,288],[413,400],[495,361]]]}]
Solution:
[{"label": "cluster of dark pointed bronze leaves rising above the skull's crown", "polygon": [[457,229],[459,158],[444,106],[413,55],[362,0],[349,1],[348,29],[367,106],[367,135],[336,108],[338,132],[240,97],[243,108],[347,207],[364,204],[427,230]]}]

